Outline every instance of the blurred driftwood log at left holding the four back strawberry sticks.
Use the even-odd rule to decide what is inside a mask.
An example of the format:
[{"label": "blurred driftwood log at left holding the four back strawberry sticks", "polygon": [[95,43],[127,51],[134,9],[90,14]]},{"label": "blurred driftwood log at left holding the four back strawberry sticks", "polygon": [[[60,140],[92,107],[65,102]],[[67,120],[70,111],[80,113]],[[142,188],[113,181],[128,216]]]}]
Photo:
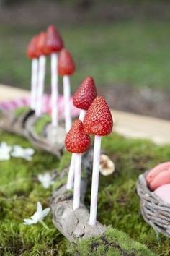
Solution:
[{"label": "blurred driftwood log at left holding the four back strawberry sticks", "polygon": [[35,148],[48,151],[60,158],[64,148],[63,126],[58,126],[56,132],[56,129],[47,123],[42,129],[42,134],[37,135],[34,127],[38,119],[39,117],[35,116],[35,111],[32,110],[27,110],[19,116],[15,116],[14,111],[1,111],[0,128],[26,137]]}]

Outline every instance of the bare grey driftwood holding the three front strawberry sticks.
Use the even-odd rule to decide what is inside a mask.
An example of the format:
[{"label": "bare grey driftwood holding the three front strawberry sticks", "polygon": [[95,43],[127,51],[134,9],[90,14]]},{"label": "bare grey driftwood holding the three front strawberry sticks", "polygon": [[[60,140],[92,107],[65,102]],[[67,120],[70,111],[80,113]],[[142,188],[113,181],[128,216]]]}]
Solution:
[{"label": "bare grey driftwood holding the three front strawberry sticks", "polygon": [[[81,204],[80,208],[73,210],[73,192],[66,189],[66,185],[53,192],[51,209],[53,213],[53,223],[55,227],[73,242],[79,238],[89,238],[103,234],[106,226],[97,221],[95,226],[89,225],[89,210],[84,205],[86,187],[91,176],[91,167],[93,160],[93,149],[83,155],[82,168],[86,171],[84,178],[81,179]],[[68,175],[68,168],[64,169],[61,174]],[[62,175],[63,178],[63,175]],[[60,177],[58,177],[60,179]]]}]

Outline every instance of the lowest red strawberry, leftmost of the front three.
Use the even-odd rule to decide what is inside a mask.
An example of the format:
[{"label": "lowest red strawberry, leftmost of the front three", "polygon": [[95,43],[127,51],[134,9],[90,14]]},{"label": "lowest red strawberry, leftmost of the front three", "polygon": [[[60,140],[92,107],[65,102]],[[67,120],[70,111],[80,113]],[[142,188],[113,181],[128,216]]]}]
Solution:
[{"label": "lowest red strawberry, leftmost of the front three", "polygon": [[73,122],[73,125],[66,135],[66,149],[71,153],[84,153],[90,147],[90,137],[84,132],[83,123],[80,120]]}]

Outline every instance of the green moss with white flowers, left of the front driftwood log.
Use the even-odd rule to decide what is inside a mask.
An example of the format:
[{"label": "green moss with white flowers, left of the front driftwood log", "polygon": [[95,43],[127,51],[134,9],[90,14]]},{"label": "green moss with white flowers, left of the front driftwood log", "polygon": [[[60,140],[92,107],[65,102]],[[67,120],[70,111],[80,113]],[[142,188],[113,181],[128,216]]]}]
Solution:
[{"label": "green moss with white flowers, left of the front driftwood log", "polygon": [[[0,140],[9,145],[32,147],[27,140],[16,135],[0,133]],[[67,241],[54,228],[51,214],[45,218],[49,230],[40,223],[24,226],[23,218],[30,218],[37,201],[43,208],[50,203],[50,189],[44,189],[37,174],[58,167],[58,159],[49,153],[35,150],[32,161],[11,158],[0,162],[0,255],[63,255]]]}]

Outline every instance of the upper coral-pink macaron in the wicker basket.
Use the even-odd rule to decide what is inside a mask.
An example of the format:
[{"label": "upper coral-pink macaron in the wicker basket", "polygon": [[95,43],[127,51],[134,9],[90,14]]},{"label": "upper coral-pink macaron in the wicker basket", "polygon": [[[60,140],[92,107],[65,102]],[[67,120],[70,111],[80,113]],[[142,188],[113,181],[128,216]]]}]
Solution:
[{"label": "upper coral-pink macaron in the wicker basket", "polygon": [[152,168],[146,176],[146,182],[151,191],[164,184],[170,184],[170,162],[160,163]]}]

